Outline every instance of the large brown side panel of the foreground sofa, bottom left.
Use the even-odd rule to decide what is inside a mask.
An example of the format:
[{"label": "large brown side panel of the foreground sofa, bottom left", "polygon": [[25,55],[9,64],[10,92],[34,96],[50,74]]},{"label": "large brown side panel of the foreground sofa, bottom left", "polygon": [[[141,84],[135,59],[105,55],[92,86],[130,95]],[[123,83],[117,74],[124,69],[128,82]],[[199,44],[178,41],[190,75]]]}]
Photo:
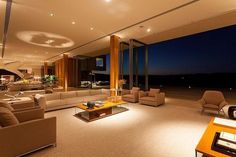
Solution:
[{"label": "large brown side panel of the foreground sofa, bottom left", "polygon": [[56,117],[38,119],[0,129],[1,156],[19,156],[56,144]]}]

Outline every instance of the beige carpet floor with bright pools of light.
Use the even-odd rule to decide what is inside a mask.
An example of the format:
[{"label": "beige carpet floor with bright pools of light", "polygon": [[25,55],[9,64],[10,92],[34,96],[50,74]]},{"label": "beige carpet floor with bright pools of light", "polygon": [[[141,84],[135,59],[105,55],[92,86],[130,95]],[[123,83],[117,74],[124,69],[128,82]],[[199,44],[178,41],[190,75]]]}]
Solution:
[{"label": "beige carpet floor with bright pools of light", "polygon": [[160,107],[128,104],[129,111],[86,123],[74,109],[48,112],[57,117],[57,147],[32,157],[194,157],[210,121],[194,101],[170,99]]}]

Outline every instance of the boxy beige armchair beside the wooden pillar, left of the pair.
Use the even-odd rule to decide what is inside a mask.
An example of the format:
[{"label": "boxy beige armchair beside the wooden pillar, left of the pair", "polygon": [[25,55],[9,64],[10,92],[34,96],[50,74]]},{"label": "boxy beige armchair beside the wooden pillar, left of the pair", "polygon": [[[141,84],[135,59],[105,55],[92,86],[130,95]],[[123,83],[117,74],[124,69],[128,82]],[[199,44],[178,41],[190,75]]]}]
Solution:
[{"label": "boxy beige armchair beside the wooden pillar, left of the pair", "polygon": [[140,88],[133,87],[131,90],[122,90],[122,100],[127,102],[138,102]]}]

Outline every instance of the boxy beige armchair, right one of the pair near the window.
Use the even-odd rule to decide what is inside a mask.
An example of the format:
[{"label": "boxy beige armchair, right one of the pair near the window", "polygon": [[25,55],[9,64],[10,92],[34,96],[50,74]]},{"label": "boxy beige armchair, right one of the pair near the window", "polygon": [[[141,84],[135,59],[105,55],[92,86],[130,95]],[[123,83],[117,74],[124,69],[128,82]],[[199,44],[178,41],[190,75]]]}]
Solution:
[{"label": "boxy beige armchair, right one of the pair near the window", "polygon": [[151,88],[148,92],[140,91],[139,103],[150,106],[165,104],[165,93],[160,93],[160,89],[153,88]]}]

